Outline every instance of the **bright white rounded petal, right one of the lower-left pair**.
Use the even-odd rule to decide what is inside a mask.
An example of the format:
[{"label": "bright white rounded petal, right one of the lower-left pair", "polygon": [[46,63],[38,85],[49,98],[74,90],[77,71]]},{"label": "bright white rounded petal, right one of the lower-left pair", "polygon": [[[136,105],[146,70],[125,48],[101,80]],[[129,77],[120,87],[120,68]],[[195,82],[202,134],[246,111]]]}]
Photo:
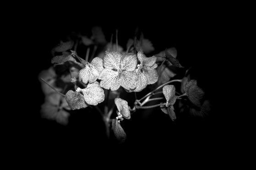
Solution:
[{"label": "bright white rounded petal, right one of the lower-left pair", "polygon": [[82,93],[84,95],[84,100],[89,105],[96,106],[98,103],[104,101],[104,90],[100,87],[97,81],[92,84],[88,84],[87,88],[82,89]]}]

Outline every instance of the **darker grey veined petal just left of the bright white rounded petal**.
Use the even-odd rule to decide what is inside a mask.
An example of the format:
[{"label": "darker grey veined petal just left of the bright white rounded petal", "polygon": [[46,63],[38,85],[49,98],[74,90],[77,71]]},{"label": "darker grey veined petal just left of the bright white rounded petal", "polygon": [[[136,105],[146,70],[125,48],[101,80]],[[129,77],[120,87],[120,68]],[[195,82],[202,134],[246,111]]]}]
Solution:
[{"label": "darker grey veined petal just left of the bright white rounded petal", "polygon": [[66,93],[65,99],[72,110],[82,109],[87,107],[84,97],[79,92],[69,90]]}]

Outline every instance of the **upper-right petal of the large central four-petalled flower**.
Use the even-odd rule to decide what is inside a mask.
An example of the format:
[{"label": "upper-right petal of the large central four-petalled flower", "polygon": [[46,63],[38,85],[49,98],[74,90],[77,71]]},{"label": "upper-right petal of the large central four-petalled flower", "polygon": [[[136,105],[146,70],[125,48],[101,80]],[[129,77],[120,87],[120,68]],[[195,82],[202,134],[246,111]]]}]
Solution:
[{"label": "upper-right petal of the large central four-petalled flower", "polygon": [[137,66],[137,57],[134,53],[125,54],[122,62],[121,68],[125,69],[126,71],[133,71],[136,69]]}]

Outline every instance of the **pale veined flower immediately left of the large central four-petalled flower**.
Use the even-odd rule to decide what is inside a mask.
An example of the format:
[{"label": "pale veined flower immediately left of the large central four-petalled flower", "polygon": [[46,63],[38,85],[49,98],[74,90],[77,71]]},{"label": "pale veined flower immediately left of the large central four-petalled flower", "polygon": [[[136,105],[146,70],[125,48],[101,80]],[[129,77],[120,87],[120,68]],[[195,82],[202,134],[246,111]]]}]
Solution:
[{"label": "pale veined flower immediately left of the large central four-petalled flower", "polygon": [[87,84],[94,83],[103,70],[103,60],[101,58],[95,57],[93,61],[90,63],[84,62],[85,68],[81,69],[78,73],[79,80],[82,80],[83,83]]}]

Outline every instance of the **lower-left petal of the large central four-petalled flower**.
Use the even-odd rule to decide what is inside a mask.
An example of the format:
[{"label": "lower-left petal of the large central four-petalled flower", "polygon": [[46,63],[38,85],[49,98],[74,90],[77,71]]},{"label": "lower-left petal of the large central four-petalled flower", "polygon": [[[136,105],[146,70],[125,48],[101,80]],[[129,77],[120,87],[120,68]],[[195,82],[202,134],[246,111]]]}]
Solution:
[{"label": "lower-left petal of the large central four-petalled flower", "polygon": [[118,72],[112,69],[103,69],[98,77],[100,86],[105,89],[111,89],[112,91],[119,89],[120,78]]}]

